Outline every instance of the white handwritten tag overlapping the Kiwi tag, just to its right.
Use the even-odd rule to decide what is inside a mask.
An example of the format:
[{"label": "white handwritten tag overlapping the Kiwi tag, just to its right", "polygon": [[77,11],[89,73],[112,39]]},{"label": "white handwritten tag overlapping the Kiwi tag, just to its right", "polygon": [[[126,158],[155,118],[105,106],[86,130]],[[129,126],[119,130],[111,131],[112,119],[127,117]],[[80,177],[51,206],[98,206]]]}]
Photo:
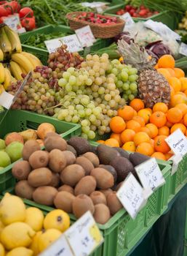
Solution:
[{"label": "white handwritten tag overlapping the Kiwi tag, just to its right", "polygon": [[144,188],[150,187],[154,190],[166,182],[155,158],[136,166],[135,170]]}]

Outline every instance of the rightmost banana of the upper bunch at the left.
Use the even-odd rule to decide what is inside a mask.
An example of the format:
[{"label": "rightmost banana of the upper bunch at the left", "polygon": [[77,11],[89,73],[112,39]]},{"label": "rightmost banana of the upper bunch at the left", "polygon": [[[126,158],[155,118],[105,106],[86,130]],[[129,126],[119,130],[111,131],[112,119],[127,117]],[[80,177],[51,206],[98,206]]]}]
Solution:
[{"label": "rightmost banana of the upper bunch at the left", "polygon": [[12,52],[21,53],[22,47],[21,47],[20,37],[18,36],[18,34],[15,31],[13,31],[11,28],[9,28],[9,26],[4,26],[4,31],[7,34],[9,42],[12,45]]}]

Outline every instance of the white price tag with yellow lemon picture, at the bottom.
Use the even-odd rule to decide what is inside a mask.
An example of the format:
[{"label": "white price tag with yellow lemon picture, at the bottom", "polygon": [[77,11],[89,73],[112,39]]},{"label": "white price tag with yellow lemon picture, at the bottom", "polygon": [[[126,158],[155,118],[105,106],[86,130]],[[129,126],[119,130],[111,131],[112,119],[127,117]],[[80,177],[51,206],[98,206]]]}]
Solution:
[{"label": "white price tag with yellow lemon picture, at the bottom", "polygon": [[90,211],[65,232],[65,237],[75,256],[87,256],[103,243],[103,236]]}]

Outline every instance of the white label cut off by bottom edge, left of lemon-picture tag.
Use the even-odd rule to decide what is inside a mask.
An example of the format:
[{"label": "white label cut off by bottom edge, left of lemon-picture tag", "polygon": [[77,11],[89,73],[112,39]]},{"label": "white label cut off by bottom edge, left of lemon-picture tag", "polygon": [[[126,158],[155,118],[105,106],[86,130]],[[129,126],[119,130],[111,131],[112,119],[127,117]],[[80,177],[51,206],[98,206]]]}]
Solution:
[{"label": "white label cut off by bottom edge, left of lemon-picture tag", "polygon": [[65,236],[62,235],[39,256],[73,256],[73,253]]}]

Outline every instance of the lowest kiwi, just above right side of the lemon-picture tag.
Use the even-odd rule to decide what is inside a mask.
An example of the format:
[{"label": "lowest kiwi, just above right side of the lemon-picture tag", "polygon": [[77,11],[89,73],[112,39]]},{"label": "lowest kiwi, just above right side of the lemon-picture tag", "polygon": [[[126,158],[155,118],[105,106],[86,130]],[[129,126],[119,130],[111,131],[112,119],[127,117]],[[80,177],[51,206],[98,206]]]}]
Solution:
[{"label": "lowest kiwi, just above right side of the lemon-picture tag", "polygon": [[108,220],[111,218],[108,206],[103,203],[98,203],[95,206],[95,212],[93,214],[93,217],[95,219],[95,222],[98,222],[99,224],[106,224],[106,222],[108,222]]}]

